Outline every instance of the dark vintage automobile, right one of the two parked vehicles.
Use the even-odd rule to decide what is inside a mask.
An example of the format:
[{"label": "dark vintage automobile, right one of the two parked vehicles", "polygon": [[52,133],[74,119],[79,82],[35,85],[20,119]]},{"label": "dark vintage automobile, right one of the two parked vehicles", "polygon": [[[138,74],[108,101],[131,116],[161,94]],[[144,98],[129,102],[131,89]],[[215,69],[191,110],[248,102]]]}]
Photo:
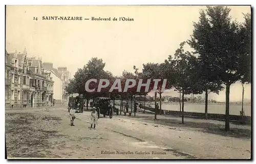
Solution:
[{"label": "dark vintage automobile, right one of the two parked vehicles", "polygon": [[109,118],[113,117],[114,112],[118,115],[118,108],[110,104],[109,97],[97,97],[94,106],[98,113],[98,119],[100,118],[100,114],[103,115],[103,117],[109,116]]}]

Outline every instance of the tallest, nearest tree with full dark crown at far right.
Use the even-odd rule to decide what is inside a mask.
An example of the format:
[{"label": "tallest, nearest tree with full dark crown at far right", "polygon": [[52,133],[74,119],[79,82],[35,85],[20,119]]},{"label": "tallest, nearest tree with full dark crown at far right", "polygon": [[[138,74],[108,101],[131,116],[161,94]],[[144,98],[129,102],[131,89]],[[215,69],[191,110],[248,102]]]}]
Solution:
[{"label": "tallest, nearest tree with full dark crown at far right", "polygon": [[231,20],[229,12],[230,9],[223,6],[202,10],[199,23],[194,24],[190,43],[206,62],[207,71],[212,73],[204,74],[226,85],[226,131],[229,130],[230,85],[242,80],[246,73],[250,74],[248,61],[245,61],[249,59],[246,40],[250,39],[243,25]]}]

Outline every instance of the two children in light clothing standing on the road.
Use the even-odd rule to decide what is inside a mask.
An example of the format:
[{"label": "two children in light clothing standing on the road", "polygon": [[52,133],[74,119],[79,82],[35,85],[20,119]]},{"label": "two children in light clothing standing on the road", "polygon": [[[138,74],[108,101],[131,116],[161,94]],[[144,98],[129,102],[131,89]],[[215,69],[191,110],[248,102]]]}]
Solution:
[{"label": "two children in light clothing standing on the road", "polygon": [[[74,120],[75,120],[75,109],[74,108],[71,108],[70,111],[69,111],[69,117],[70,117],[70,125],[71,126],[75,126],[74,125]],[[93,106],[92,107],[92,112],[90,114],[90,122],[91,122],[91,127],[90,129],[95,129],[96,128],[96,124],[98,122],[98,113],[96,112],[96,107]]]}]

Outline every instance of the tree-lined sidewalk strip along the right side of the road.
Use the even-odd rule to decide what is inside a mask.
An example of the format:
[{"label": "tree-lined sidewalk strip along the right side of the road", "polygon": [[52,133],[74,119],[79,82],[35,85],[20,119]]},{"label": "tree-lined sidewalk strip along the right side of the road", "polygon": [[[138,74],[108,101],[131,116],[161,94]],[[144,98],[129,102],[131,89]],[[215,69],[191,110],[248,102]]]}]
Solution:
[{"label": "tree-lined sidewalk strip along the right side of the road", "polygon": [[[120,108],[120,107],[119,107]],[[129,109],[129,111],[131,111]],[[123,116],[122,117],[129,117]],[[129,117],[133,120],[144,121],[148,123],[155,123],[159,125],[166,125],[170,127],[184,128],[187,130],[197,130],[212,134],[220,134],[223,136],[232,136],[235,138],[251,138],[251,126],[250,125],[241,125],[230,122],[230,131],[225,131],[225,122],[218,120],[204,120],[199,118],[187,118],[184,117],[184,124],[182,124],[180,116],[172,115],[157,115],[157,120],[154,120],[154,113],[143,113],[137,112],[136,116],[132,115]]]}]

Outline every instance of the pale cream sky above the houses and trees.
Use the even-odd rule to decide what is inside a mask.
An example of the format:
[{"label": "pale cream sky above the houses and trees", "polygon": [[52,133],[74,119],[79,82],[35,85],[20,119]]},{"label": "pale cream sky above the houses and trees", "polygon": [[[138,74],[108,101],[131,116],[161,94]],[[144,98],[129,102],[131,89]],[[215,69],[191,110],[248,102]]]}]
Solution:
[{"label": "pale cream sky above the houses and trees", "polygon": [[[250,6],[229,6],[230,16],[243,22]],[[105,70],[121,75],[135,65],[162,63],[183,41],[190,39],[193,22],[205,6],[7,6],[6,49],[39,56],[42,62],[66,66],[73,76],[93,58],[105,62]],[[42,20],[42,16],[83,18],[133,18],[134,21]],[[37,20],[33,20],[37,17]],[[188,48],[188,50],[190,50]],[[250,85],[245,99],[251,99]],[[173,90],[164,95],[178,96]],[[225,90],[209,99],[225,101]],[[231,85],[230,101],[240,101],[242,86]]]}]

